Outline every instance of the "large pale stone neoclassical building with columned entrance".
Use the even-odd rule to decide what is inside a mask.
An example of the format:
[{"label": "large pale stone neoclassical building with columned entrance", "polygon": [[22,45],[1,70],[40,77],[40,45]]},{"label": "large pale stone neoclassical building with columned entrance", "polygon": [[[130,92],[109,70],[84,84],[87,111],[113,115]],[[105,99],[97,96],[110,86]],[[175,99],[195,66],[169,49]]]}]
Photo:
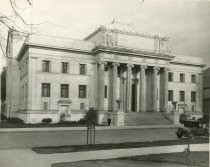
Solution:
[{"label": "large pale stone neoclassical building with columned entrance", "polygon": [[183,112],[200,116],[202,59],[174,55],[168,42],[116,22],[84,40],[10,31],[7,117],[74,121],[90,107],[97,109],[99,123],[111,117],[113,125],[160,123],[166,117],[173,122]]}]

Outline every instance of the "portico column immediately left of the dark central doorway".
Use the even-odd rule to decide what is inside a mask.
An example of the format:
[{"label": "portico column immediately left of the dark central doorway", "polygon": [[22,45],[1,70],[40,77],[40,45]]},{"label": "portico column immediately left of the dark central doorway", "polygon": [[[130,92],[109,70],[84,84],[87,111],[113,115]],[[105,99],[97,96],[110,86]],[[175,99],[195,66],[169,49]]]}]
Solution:
[{"label": "portico column immediately left of the dark central doorway", "polygon": [[127,64],[126,111],[131,111],[131,75],[133,64]]}]

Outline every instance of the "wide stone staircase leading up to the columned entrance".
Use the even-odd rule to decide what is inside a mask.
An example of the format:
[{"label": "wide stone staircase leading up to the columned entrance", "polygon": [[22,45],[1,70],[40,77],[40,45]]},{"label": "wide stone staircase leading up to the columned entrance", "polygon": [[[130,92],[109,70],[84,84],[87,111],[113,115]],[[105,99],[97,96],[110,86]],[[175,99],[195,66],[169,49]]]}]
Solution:
[{"label": "wide stone staircase leading up to the columned entrance", "polygon": [[125,113],[125,126],[140,126],[140,125],[172,125],[173,123],[166,118],[162,113],[154,112],[129,112]]}]

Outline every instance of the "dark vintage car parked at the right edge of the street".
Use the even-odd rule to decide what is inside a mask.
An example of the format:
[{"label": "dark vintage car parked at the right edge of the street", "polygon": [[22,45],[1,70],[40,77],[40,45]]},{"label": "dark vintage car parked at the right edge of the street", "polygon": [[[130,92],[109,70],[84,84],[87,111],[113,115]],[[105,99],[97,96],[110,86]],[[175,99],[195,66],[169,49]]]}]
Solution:
[{"label": "dark vintage car parked at the right edge of the street", "polygon": [[182,137],[194,139],[196,136],[209,136],[208,127],[204,126],[204,123],[200,120],[185,120],[183,125],[183,127],[179,127],[176,131],[179,139]]}]

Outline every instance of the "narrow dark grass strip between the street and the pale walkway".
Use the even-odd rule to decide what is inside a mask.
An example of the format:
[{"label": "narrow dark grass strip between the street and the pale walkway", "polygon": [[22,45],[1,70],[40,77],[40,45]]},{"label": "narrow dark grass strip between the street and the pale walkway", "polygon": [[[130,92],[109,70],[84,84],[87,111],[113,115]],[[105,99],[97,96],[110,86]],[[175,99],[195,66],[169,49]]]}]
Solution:
[{"label": "narrow dark grass strip between the street and the pale walkway", "polygon": [[[193,143],[209,143],[208,138],[200,138],[189,141]],[[154,147],[154,146],[168,146],[168,145],[182,145],[187,144],[187,139],[182,140],[160,140],[152,142],[128,142],[128,143],[109,143],[109,144],[95,144],[95,145],[67,145],[54,147],[35,147],[32,148],[38,154],[55,154],[79,151],[93,151],[93,150],[107,150],[107,149],[123,149],[123,148],[140,148],[140,147]]]}]

